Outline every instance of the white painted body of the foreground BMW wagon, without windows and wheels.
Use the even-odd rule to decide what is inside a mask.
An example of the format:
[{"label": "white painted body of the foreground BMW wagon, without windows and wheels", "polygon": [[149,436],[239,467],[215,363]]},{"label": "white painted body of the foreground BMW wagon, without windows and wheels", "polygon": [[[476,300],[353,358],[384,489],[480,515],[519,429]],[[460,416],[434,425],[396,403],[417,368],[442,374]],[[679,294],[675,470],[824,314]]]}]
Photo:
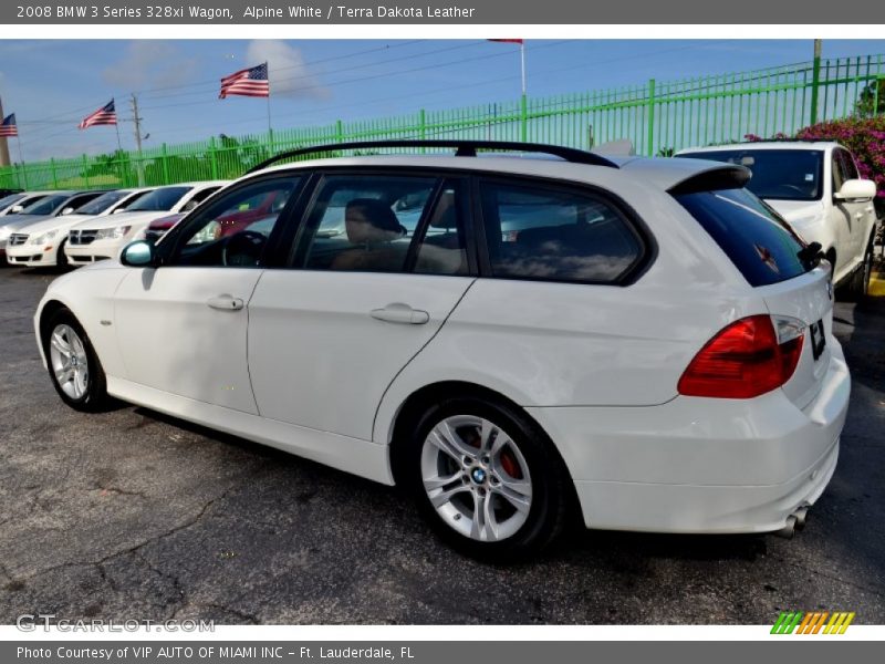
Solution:
[{"label": "white painted body of the foreground BMW wagon, without windows and wheels", "polygon": [[[111,260],[49,287],[38,338],[44,314],[67,308],[111,395],[387,485],[410,397],[447,385],[493,393],[550,437],[590,528],[773,531],[818,499],[850,393],[829,266],[753,288],[667,193],[735,167],[398,155],[301,162],[244,179],[392,166],[598,188],[647,221],[654,258],[624,286]],[[219,311],[219,298],[239,310]],[[375,319],[398,303],[426,312],[412,321],[423,324]],[[795,373],[778,388],[753,398],[679,393],[717,332],[772,314],[822,321],[820,359],[805,334]]]}]

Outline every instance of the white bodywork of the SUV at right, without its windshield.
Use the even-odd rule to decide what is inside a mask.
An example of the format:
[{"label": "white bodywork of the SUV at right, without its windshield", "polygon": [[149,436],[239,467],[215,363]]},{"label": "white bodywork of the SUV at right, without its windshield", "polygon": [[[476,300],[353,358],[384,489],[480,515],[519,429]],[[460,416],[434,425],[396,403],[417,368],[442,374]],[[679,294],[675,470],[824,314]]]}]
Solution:
[{"label": "white bodywork of the SUV at right, without its windshield", "polygon": [[[853,173],[850,179],[860,179],[856,159],[845,147],[831,142],[760,142],[739,145],[709,145],[684,149],[676,156],[690,155],[704,158],[705,153],[723,151],[815,151],[823,155],[821,188],[813,199],[791,200],[762,196],[771,207],[790,222],[795,231],[808,242],[819,242],[822,251],[833,263],[833,281],[846,281],[864,267],[867,249],[872,247],[875,232],[876,212],[873,198],[840,199],[836,184],[844,178],[839,173],[836,155],[840,153],[850,160]],[[712,155],[710,155],[712,158]],[[783,173],[784,181],[793,174]],[[812,174],[808,174],[811,176]],[[752,188],[752,186],[751,186]]]}]

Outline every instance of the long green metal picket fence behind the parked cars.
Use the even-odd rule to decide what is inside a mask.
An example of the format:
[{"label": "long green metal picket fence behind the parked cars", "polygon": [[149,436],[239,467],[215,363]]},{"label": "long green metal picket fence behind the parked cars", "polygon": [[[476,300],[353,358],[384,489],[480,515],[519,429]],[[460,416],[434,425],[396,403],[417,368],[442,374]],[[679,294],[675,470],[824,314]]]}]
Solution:
[{"label": "long green metal picket fence behind the parked cars", "polygon": [[[629,138],[637,154],[793,134],[815,121],[881,112],[885,55],[863,55],[767,70],[648,81],[643,85],[522,97],[442,111],[166,145],[140,154],[50,159],[0,170],[0,187],[62,189],[165,185],[233,178],[282,151],[378,138],[486,138],[590,148]],[[866,104],[858,107],[858,100]],[[860,108],[860,110],[858,110]]]}]

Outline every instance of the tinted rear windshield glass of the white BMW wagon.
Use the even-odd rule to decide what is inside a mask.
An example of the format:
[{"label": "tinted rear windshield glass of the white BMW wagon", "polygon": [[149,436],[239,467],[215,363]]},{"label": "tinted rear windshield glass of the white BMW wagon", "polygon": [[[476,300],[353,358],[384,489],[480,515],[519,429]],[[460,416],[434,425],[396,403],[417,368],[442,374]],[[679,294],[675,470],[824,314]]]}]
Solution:
[{"label": "tinted rear windshield glass of the white BMW wagon", "polygon": [[710,234],[750,286],[793,279],[811,270],[800,258],[802,241],[767,205],[747,189],[720,189],[675,196]]}]

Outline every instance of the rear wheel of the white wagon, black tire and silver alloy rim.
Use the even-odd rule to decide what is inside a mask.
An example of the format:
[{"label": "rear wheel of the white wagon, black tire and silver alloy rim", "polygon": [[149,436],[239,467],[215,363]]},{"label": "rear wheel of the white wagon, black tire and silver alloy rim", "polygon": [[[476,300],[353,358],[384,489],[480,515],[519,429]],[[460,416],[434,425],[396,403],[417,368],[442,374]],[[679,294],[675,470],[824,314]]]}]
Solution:
[{"label": "rear wheel of the white wagon, black tire and silver alloy rim", "polygon": [[540,552],[562,532],[571,478],[519,408],[450,398],[415,422],[400,477],[445,541],[473,558],[508,562]]}]

